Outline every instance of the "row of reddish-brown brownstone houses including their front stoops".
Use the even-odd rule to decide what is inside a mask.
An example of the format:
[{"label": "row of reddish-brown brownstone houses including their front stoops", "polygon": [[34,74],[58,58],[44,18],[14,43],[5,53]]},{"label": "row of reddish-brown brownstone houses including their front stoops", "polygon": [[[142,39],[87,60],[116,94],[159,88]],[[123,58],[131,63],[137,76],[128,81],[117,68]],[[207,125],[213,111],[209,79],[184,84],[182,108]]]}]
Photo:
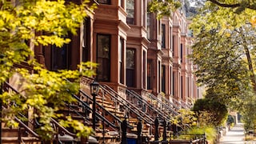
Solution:
[{"label": "row of reddish-brown brownstone houses including their front stoops", "polygon": [[[146,10],[149,0],[97,2],[98,9],[84,20],[78,35],[69,35],[70,44],[62,49],[34,47],[35,57],[48,70],[74,70],[80,62],[97,62],[95,81],[102,86],[97,98],[97,107],[102,110],[98,113],[103,117],[104,113],[113,113],[121,119],[128,116],[130,123],[142,118],[145,124],[142,133],[154,134],[155,118],[160,116],[167,121],[178,114],[178,109],[189,109],[195,99],[202,98],[202,90],[196,85],[193,74],[196,67],[187,58],[193,39],[186,14],[177,10],[170,17],[157,19]],[[82,90],[89,97],[93,79],[82,78],[81,81]],[[89,97],[82,101],[88,101]],[[150,110],[150,105],[156,110]],[[167,110],[168,114],[161,110]],[[90,114],[86,117],[91,118]],[[106,119],[115,126],[120,125],[110,114]],[[102,126],[106,124],[103,122]],[[136,129],[129,132],[134,131]],[[107,138],[105,133],[103,135]],[[113,138],[110,133],[108,136]]]}]

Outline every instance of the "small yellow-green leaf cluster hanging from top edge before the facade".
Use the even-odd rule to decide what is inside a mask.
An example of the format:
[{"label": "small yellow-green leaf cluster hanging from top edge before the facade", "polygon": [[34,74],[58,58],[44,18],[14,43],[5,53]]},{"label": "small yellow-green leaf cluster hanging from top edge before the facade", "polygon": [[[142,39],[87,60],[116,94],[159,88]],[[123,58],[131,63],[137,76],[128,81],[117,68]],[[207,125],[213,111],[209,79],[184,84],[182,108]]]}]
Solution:
[{"label": "small yellow-green leaf cluster hanging from top edge before the facade", "polygon": [[148,3],[148,11],[157,14],[158,18],[162,18],[162,16],[169,16],[172,14],[174,10],[177,10],[181,6],[179,1],[174,0],[165,0],[158,1],[152,0]]}]

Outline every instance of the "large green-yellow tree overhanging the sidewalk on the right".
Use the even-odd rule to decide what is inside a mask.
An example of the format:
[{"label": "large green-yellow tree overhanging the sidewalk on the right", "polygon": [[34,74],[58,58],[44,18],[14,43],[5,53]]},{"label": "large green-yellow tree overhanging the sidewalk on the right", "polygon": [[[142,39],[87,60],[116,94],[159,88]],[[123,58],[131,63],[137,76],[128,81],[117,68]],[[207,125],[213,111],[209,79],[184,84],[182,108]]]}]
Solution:
[{"label": "large green-yellow tree overhanging the sidewalk on the right", "polygon": [[206,94],[253,119],[254,6],[252,1],[209,0],[190,25],[195,40],[191,58]]}]

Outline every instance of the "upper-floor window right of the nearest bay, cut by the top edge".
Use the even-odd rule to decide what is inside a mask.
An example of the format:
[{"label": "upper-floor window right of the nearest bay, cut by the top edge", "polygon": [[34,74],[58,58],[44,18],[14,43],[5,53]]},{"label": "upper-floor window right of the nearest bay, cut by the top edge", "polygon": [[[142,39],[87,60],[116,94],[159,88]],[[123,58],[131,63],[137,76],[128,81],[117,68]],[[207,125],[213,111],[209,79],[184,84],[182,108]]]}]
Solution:
[{"label": "upper-floor window right of the nearest bay, cut by the top edge", "polygon": [[127,23],[134,25],[134,0],[126,1],[126,12],[128,14],[126,18]]}]

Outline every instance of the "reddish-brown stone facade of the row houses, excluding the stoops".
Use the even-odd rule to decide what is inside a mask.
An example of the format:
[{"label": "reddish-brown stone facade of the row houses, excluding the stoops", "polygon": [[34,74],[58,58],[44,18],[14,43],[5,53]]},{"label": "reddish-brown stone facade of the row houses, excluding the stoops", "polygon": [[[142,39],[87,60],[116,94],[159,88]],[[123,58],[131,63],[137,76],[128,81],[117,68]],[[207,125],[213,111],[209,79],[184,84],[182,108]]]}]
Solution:
[{"label": "reddish-brown stone facade of the row houses, excluding the stoops", "polygon": [[98,9],[86,18],[78,36],[70,35],[72,42],[65,50],[36,47],[38,61],[49,70],[97,62],[96,80],[119,94],[130,89],[142,97],[151,93],[170,102],[191,104],[202,98],[202,88],[195,83],[196,66],[187,58],[193,38],[186,14],[177,10],[157,19],[147,12],[147,2],[98,1]]}]

